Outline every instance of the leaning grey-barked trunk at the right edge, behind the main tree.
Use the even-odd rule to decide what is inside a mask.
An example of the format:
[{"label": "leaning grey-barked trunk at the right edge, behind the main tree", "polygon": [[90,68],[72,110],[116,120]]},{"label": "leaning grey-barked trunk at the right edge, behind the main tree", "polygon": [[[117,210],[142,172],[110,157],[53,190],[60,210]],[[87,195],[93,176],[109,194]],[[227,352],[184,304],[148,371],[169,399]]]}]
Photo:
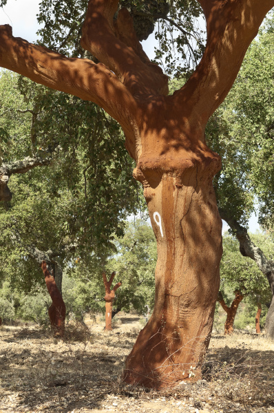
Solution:
[{"label": "leaning grey-barked trunk at the right edge, behind the main tree", "polygon": [[266,335],[269,338],[274,339],[274,261],[266,258],[263,251],[251,241],[247,229],[231,218],[228,211],[224,211],[223,209],[220,209],[219,211],[222,219],[225,220],[234,231],[240,244],[240,253],[244,257],[249,257],[251,260],[255,261],[260,271],[262,271],[268,279],[272,300],[266,315]]}]

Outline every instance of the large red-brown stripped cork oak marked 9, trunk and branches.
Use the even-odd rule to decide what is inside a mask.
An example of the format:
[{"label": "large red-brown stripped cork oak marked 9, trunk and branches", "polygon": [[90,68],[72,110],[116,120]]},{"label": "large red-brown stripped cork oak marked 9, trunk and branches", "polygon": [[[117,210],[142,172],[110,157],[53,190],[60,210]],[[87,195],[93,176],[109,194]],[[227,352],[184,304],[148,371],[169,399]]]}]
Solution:
[{"label": "large red-brown stripped cork oak marked 9, trunk and branches", "polygon": [[167,76],[143,51],[128,10],[121,8],[114,20],[118,3],[88,3],[81,46],[101,63],[16,39],[3,25],[0,65],[92,100],[123,127],[158,244],[154,312],[129,354],[124,378],[160,388],[200,377],[222,254],[212,187],[220,158],[205,144],[204,129],[274,0],[198,0],[207,45],[189,81],[172,96]]}]

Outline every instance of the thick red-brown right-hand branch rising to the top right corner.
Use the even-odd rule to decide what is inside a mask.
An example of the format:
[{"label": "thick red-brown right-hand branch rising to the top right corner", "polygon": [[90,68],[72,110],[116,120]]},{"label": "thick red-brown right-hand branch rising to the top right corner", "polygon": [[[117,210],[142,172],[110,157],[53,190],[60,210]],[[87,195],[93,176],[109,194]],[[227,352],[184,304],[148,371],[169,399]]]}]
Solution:
[{"label": "thick red-brown right-hand branch rising to the top right corner", "polygon": [[198,0],[207,20],[207,45],[189,81],[173,94],[177,105],[193,105],[204,129],[228,94],[244,54],[274,0]]}]

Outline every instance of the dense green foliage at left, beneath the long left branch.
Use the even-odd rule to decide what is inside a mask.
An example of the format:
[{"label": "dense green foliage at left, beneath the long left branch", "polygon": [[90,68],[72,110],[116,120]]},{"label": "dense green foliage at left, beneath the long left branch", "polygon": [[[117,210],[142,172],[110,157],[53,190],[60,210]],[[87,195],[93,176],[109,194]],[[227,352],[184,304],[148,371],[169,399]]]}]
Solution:
[{"label": "dense green foliage at left, beneath the long left branch", "polygon": [[[81,238],[81,244],[89,240],[87,249],[78,248],[82,256],[103,244],[111,246],[112,231],[123,233],[123,218],[128,213],[125,200],[127,209],[138,207],[138,188],[136,185],[133,191],[128,188],[129,170],[123,173],[123,178],[117,176],[113,165],[123,161],[125,148],[120,130],[116,125],[112,128],[112,120],[108,121],[103,112],[102,117],[96,116],[94,131],[91,128],[96,113],[90,104],[79,109],[86,116],[79,119],[78,115],[74,116],[75,100],[58,92],[46,93],[44,87],[36,87],[8,72],[1,76],[0,91],[1,127],[9,136],[7,142],[2,142],[5,163],[0,171],[9,179],[14,173],[26,173],[38,165],[51,163],[47,171],[32,170],[10,181],[16,199],[10,204],[0,204],[0,271],[10,277],[13,286],[23,284],[21,288],[30,292],[39,285],[39,267],[45,261],[62,293],[63,267],[74,257],[76,240]],[[52,110],[48,109],[49,102]],[[83,106],[81,100],[78,103]],[[66,123],[57,119],[60,113]],[[98,166],[98,148],[107,144],[108,134],[113,138],[112,160],[104,156]],[[68,147],[71,136],[78,138],[74,146]],[[84,145],[83,149],[81,140],[85,145],[88,142],[88,147]],[[7,183],[5,180],[4,184]],[[108,204],[109,209],[106,210],[104,204]],[[47,275],[45,279],[50,278]]]}]

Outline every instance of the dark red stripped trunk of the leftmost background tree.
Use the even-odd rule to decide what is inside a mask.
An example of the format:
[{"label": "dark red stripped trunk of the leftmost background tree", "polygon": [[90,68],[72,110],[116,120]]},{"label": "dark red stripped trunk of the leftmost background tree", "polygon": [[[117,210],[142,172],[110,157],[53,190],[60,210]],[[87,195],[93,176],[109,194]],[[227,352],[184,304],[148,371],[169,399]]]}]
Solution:
[{"label": "dark red stripped trunk of the leftmost background tree", "polygon": [[50,293],[52,299],[52,305],[48,309],[48,315],[50,316],[50,324],[52,328],[56,330],[56,333],[63,335],[65,329],[65,303],[63,297],[56,286],[53,275],[48,271],[48,266],[45,261],[41,264],[42,271],[45,275],[45,284]]}]

